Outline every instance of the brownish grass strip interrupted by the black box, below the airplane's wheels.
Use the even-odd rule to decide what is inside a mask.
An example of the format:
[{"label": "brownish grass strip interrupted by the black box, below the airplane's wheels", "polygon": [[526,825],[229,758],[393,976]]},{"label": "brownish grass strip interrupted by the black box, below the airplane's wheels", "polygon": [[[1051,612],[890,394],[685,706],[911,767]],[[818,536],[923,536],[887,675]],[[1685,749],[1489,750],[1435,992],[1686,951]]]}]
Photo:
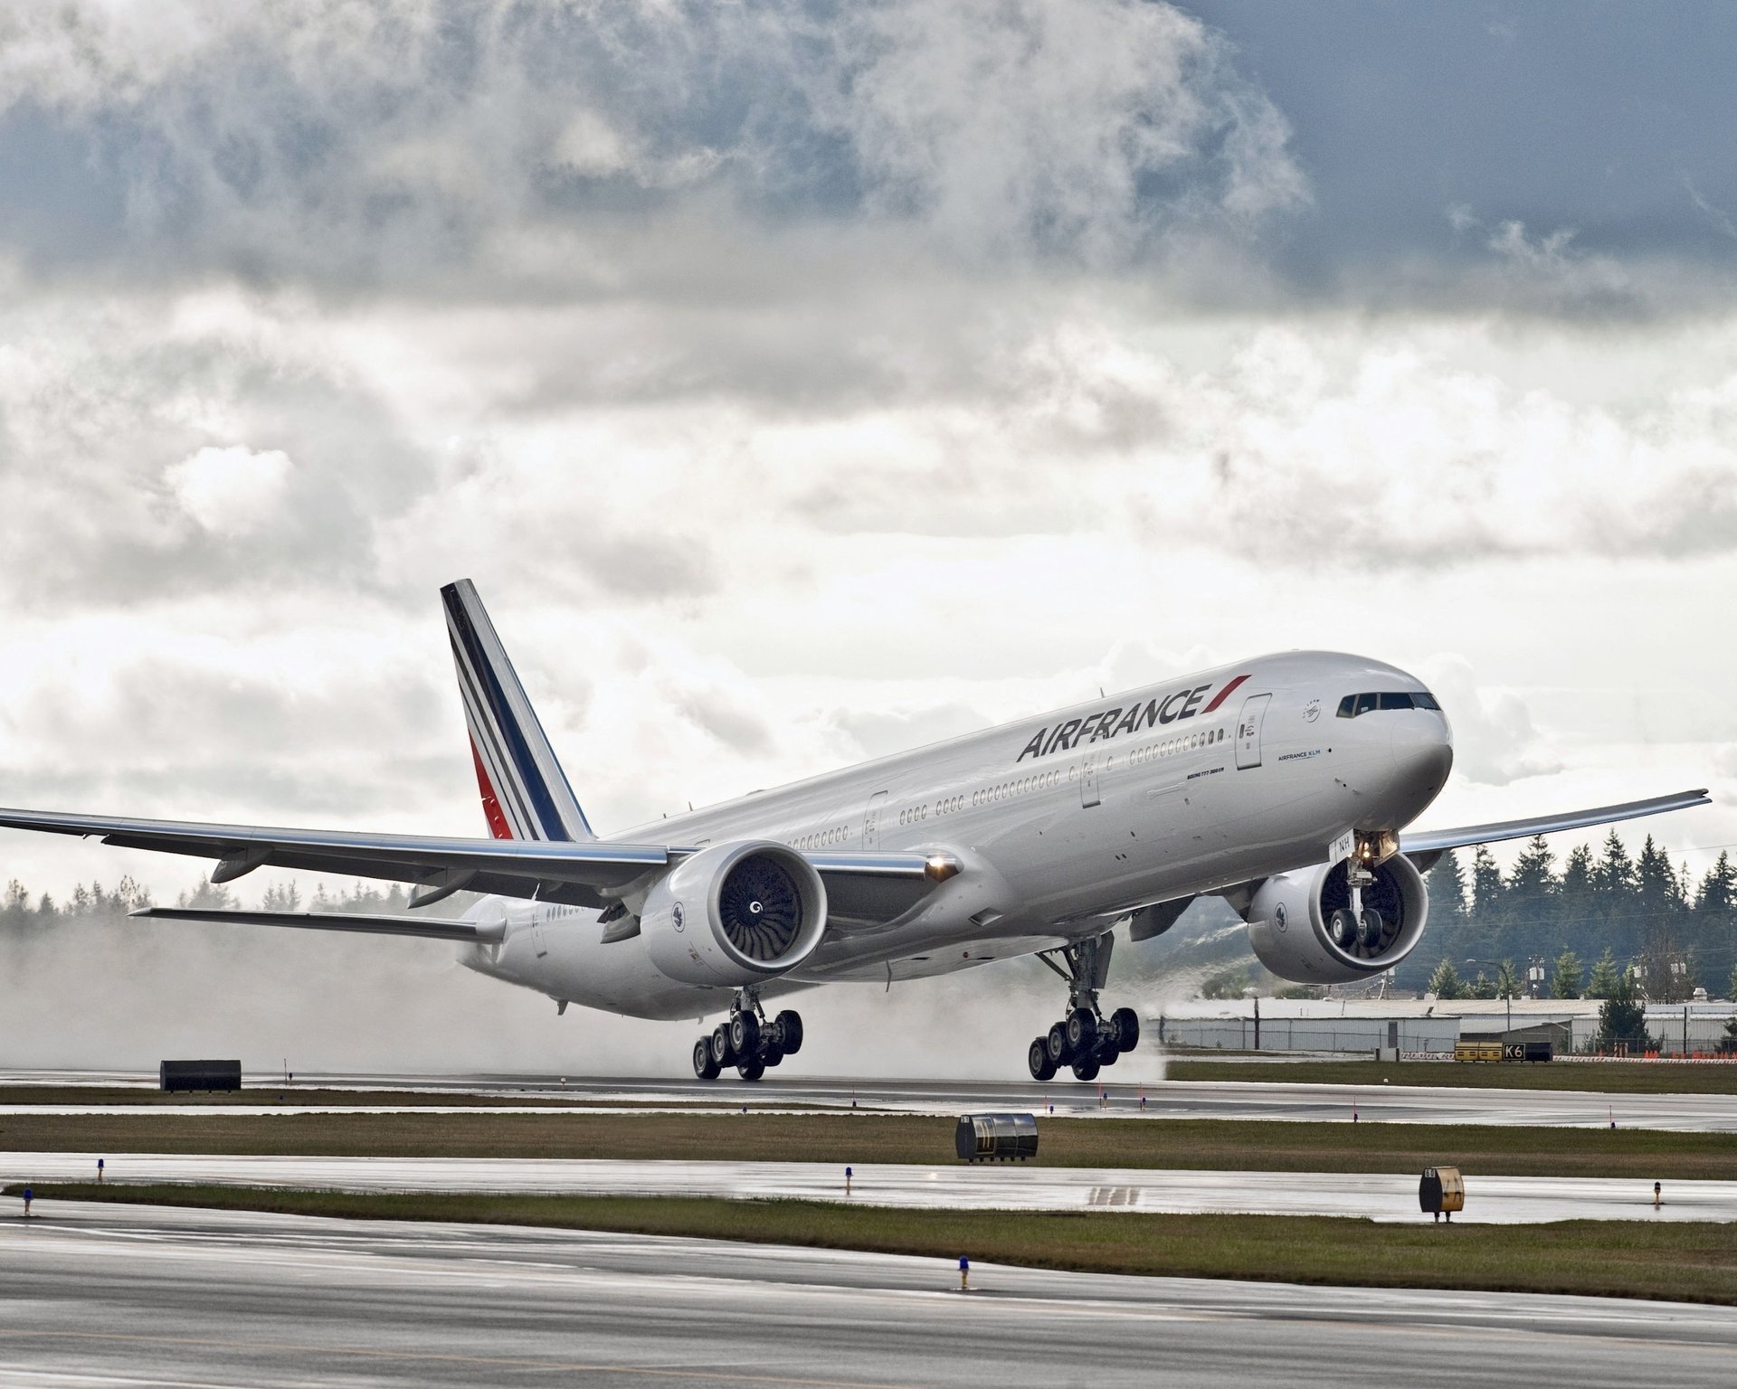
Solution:
[{"label": "brownish grass strip interrupted by the black box, below the airplane's wheels", "polygon": [[[1737,1134],[1256,1120],[1039,1120],[1039,1165],[1419,1172],[1511,1177],[1737,1177]],[[3,1115],[0,1149],[234,1156],[655,1158],[952,1163],[933,1115]],[[24,1175],[24,1174],[19,1174]]]}]

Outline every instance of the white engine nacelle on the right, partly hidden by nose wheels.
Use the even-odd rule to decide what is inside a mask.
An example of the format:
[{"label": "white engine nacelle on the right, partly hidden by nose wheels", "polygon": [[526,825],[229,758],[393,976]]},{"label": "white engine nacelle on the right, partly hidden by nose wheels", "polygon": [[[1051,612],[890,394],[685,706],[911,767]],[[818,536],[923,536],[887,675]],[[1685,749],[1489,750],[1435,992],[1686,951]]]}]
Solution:
[{"label": "white engine nacelle on the right, partly hidden by nose wheels", "polygon": [[1346,863],[1266,879],[1244,913],[1261,964],[1299,984],[1350,984],[1410,955],[1430,917],[1423,875],[1405,854],[1393,854],[1374,873],[1364,889],[1364,906],[1381,917],[1374,932],[1332,929],[1334,912],[1351,905]]}]

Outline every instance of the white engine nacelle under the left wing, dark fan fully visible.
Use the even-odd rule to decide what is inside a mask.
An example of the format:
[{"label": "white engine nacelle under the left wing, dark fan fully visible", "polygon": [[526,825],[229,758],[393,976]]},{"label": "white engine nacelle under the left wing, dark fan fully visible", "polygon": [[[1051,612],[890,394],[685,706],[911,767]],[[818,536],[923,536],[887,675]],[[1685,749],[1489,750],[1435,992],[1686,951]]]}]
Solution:
[{"label": "white engine nacelle under the left wing, dark fan fully visible", "polygon": [[773,840],[702,849],[665,873],[639,912],[651,964],[684,984],[775,979],[813,955],[825,929],[820,873]]}]

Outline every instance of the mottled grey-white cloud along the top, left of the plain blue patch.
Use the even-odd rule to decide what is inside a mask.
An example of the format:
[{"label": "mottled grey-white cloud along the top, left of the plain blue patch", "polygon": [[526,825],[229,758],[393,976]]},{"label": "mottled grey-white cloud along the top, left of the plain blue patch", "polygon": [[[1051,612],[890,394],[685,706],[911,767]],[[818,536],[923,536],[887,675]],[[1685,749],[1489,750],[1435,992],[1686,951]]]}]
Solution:
[{"label": "mottled grey-white cloud along the top, left of the plain blue patch", "polygon": [[[1169,5],[155,14],[0,30],[14,135],[125,189],[83,253],[146,273],[446,293],[547,281],[526,252],[549,233],[578,243],[565,290],[596,292],[643,273],[632,238],[684,198],[733,234],[860,219],[969,262],[1119,264],[1308,200],[1282,115]],[[52,238],[23,247],[76,253]]]}]

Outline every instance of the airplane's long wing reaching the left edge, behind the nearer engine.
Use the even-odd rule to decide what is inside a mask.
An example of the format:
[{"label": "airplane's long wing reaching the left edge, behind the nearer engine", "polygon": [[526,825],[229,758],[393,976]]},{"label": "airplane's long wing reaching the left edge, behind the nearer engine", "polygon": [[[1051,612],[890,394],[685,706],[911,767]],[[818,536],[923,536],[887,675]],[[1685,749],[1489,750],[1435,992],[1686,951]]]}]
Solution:
[{"label": "airplane's long wing reaching the left edge, behind the nearer engine", "polygon": [[[471,891],[603,910],[634,879],[698,852],[683,846],[611,844],[598,839],[439,839],[7,809],[0,809],[0,828],[96,835],[104,844],[123,849],[212,858],[217,859],[212,882],[231,882],[266,866],[413,882],[420,887],[412,896],[412,906]],[[844,852],[806,858],[825,880],[829,901],[837,898],[839,915],[862,920],[898,915],[943,877],[957,872],[952,858],[945,858],[945,870],[938,872],[940,859],[928,854]]]}]

